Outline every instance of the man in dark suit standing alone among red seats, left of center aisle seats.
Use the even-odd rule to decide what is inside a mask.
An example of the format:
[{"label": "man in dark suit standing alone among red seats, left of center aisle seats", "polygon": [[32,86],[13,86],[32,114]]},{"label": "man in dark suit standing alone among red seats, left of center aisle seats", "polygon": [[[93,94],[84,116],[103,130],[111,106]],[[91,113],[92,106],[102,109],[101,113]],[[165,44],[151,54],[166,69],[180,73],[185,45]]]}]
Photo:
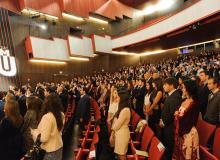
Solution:
[{"label": "man in dark suit standing alone among red seats, left of center aisle seats", "polygon": [[86,93],[87,88],[80,88],[81,98],[78,102],[76,111],[76,122],[80,125],[81,129],[85,124],[88,124],[90,120],[90,97]]}]

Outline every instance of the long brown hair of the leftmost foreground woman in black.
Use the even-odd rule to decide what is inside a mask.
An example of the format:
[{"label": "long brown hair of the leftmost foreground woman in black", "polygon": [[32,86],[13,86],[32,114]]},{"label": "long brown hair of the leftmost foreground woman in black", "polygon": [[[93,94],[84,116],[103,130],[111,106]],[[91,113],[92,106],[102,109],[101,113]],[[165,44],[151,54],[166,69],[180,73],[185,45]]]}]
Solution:
[{"label": "long brown hair of the leftmost foreground woman in black", "polygon": [[19,128],[23,122],[23,118],[20,114],[18,102],[15,100],[7,100],[4,110],[6,117],[8,117],[17,128]]}]

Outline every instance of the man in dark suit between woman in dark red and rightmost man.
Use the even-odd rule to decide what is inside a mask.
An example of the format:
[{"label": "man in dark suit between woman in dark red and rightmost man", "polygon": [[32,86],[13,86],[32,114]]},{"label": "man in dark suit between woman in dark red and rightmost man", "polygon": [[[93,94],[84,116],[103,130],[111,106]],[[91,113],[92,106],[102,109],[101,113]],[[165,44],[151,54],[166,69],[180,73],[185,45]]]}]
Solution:
[{"label": "man in dark suit between woman in dark red and rightmost man", "polygon": [[208,96],[209,96],[209,89],[208,89],[208,73],[206,71],[201,71],[199,73],[199,78],[201,80],[201,84],[199,87],[199,99],[198,99],[198,106],[200,107],[200,112],[202,113],[202,117],[204,118],[206,113],[206,108],[208,104]]}]

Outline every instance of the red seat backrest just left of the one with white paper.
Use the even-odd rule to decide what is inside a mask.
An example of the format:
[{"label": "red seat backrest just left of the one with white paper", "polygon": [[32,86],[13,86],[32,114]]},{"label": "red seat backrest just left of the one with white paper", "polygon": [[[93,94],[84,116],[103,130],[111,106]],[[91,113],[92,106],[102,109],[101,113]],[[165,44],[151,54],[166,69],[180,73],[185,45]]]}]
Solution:
[{"label": "red seat backrest just left of the one with white paper", "polygon": [[141,148],[140,149],[142,151],[147,151],[149,144],[150,144],[153,137],[154,137],[154,132],[150,129],[150,127],[145,126],[144,132],[142,135],[142,139],[141,139]]}]

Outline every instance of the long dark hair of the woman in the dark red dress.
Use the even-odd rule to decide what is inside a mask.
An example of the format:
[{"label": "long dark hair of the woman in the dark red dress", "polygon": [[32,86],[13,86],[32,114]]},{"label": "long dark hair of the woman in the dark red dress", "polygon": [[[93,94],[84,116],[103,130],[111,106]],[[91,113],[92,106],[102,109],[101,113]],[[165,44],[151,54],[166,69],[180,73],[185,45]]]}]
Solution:
[{"label": "long dark hair of the woman in the dark red dress", "polygon": [[195,80],[185,80],[183,81],[183,84],[186,88],[186,91],[190,97],[192,97],[193,100],[198,99],[198,83]]}]

